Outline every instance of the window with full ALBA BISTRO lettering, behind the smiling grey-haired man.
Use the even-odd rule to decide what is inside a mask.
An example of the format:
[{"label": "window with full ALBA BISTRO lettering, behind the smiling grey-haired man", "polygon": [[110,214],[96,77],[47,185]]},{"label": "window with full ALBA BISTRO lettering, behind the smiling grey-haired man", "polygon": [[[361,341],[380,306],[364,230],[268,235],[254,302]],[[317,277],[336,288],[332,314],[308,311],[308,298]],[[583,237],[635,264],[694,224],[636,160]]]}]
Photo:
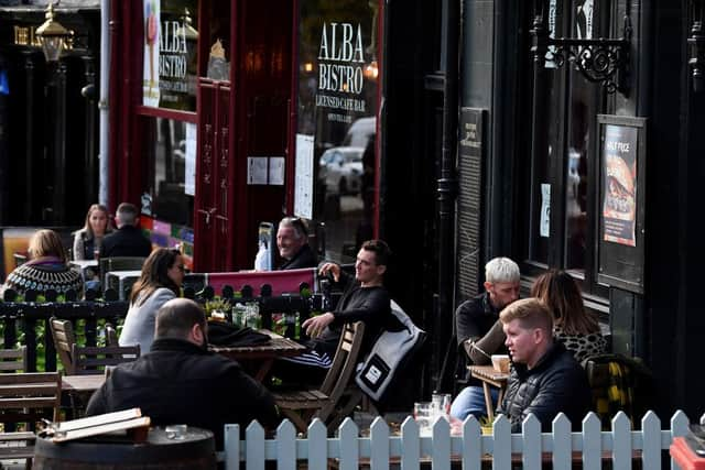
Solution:
[{"label": "window with full ALBA BISTRO lettering, behind the smiling grey-haired man", "polygon": [[[326,226],[326,256],[355,260],[373,237],[378,204],[378,2],[301,0],[296,165],[313,159],[313,186],[299,215]],[[306,152],[306,149],[311,149]]]}]

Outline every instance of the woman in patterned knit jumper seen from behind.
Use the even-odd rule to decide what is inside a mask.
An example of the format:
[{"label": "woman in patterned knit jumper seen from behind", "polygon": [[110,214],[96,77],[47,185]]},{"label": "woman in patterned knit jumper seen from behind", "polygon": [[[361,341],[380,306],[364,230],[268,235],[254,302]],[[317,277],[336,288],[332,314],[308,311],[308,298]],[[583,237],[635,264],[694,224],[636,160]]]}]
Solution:
[{"label": "woman in patterned knit jumper seen from behind", "polygon": [[56,291],[65,295],[76,292],[76,298],[83,297],[84,283],[80,273],[68,267],[66,250],[62,239],[53,230],[40,230],[30,239],[28,249],[30,261],[15,267],[2,286],[2,294],[8,288],[24,295],[26,291]]}]

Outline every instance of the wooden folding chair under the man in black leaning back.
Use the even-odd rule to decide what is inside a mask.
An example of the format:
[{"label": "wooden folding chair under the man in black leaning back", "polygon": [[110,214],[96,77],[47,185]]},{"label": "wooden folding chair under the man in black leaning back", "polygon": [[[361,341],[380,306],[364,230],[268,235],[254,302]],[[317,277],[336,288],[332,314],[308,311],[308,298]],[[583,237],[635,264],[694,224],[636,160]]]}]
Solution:
[{"label": "wooden folding chair under the man in black leaning back", "polygon": [[323,385],[317,390],[274,393],[274,401],[282,415],[300,431],[305,431],[313,418],[323,420],[328,429],[335,429],[362,400],[362,392],[355,384],[356,365],[365,324],[347,324],[343,329],[338,349]]}]

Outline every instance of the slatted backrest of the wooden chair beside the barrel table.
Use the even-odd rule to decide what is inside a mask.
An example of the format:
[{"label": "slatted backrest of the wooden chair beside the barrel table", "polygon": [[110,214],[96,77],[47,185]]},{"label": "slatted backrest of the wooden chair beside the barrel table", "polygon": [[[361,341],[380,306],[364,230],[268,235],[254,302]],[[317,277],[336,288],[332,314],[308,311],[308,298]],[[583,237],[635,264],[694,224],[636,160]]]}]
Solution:
[{"label": "slatted backrest of the wooden chair beside the barrel table", "polygon": [[0,422],[28,423],[58,419],[62,380],[58,372],[0,374]]}]

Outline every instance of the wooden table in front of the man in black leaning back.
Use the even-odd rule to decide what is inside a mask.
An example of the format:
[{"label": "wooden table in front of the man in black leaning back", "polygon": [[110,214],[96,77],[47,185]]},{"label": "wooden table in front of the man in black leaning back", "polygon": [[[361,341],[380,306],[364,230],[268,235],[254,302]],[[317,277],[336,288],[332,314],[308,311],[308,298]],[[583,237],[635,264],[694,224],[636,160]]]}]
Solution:
[{"label": "wooden table in front of the man in black leaning back", "polygon": [[258,382],[264,380],[274,363],[274,359],[292,358],[303,354],[306,350],[305,346],[300,345],[293,339],[284,338],[269,330],[259,331],[269,335],[271,340],[267,343],[253,346],[225,347],[210,345],[208,349],[218,354],[235,359],[238,362],[257,362],[254,380]]}]

